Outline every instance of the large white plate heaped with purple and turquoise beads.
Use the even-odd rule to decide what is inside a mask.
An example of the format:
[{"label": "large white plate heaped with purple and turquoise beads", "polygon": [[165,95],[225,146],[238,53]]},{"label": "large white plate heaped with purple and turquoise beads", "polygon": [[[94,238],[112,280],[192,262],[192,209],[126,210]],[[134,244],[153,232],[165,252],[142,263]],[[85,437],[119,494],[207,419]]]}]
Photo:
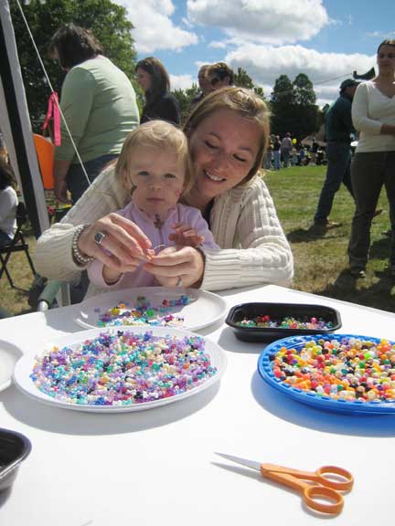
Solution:
[{"label": "large white plate heaped with purple and turquoise beads", "polygon": [[16,364],[14,381],[48,405],[102,413],[150,409],[219,381],[226,357],[215,342],[165,327],[69,334]]}]

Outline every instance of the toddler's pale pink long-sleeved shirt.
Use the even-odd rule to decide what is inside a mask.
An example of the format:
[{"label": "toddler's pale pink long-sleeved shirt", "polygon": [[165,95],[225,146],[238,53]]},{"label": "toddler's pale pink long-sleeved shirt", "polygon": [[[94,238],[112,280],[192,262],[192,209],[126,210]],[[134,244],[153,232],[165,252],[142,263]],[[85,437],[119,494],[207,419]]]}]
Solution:
[{"label": "toddler's pale pink long-sleeved shirt", "polygon": [[[122,210],[118,210],[117,214],[126,217],[126,219],[133,221],[133,223],[139,226],[145,236],[150,239],[153,248],[159,245],[165,245],[165,247],[173,246],[174,243],[170,242],[168,237],[174,233],[173,226],[176,223],[183,223],[194,228],[198,236],[205,238],[200,245],[201,247],[219,249],[200,210],[192,206],[178,203],[168,211],[165,222],[160,228],[154,225],[154,219],[152,217],[145,214],[143,210],[133,203],[129,203],[129,205],[126,205]],[[159,251],[165,247],[160,247]],[[157,254],[158,250],[155,252]],[[155,276],[144,270],[143,263],[139,268],[136,268],[134,272],[126,272],[123,274],[123,276],[112,285],[108,285],[102,278],[102,268],[103,264],[99,259],[94,259],[88,267],[89,279],[101,289],[128,289],[130,287],[153,287],[156,285]]]}]

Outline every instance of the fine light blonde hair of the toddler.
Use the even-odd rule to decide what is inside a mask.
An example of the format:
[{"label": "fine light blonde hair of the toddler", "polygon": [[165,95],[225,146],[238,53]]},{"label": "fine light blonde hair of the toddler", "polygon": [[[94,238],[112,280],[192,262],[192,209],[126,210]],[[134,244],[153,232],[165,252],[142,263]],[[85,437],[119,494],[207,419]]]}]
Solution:
[{"label": "fine light blonde hair of the toddler", "polygon": [[123,142],[123,149],[115,165],[115,174],[119,180],[122,180],[123,172],[128,171],[131,150],[139,146],[172,150],[176,153],[177,159],[185,167],[182,195],[186,195],[190,191],[193,184],[193,169],[188,152],[187,137],[182,130],[166,121],[148,121],[135,128]]}]

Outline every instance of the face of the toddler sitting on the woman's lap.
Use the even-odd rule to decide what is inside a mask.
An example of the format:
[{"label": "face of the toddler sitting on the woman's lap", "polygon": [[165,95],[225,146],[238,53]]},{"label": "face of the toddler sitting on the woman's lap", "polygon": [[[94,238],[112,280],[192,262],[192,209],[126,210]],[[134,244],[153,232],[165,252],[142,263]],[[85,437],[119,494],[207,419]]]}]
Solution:
[{"label": "face of the toddler sitting on the woman's lap", "polygon": [[129,153],[128,170],[123,172],[125,187],[135,187],[134,205],[150,216],[165,218],[184,189],[185,163],[179,154],[162,148],[134,146]]}]

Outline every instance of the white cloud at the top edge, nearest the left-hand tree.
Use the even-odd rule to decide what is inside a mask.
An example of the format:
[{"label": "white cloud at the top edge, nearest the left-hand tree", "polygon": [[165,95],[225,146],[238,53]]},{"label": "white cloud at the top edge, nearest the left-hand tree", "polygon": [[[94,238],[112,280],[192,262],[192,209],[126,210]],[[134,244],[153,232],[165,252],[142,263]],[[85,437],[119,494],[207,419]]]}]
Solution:
[{"label": "white cloud at the top edge, nearest the left-hand tree", "polygon": [[175,6],[171,0],[120,0],[133,22],[135,48],[139,53],[154,53],[157,49],[180,51],[198,42],[196,33],[175,26],[171,16]]}]

